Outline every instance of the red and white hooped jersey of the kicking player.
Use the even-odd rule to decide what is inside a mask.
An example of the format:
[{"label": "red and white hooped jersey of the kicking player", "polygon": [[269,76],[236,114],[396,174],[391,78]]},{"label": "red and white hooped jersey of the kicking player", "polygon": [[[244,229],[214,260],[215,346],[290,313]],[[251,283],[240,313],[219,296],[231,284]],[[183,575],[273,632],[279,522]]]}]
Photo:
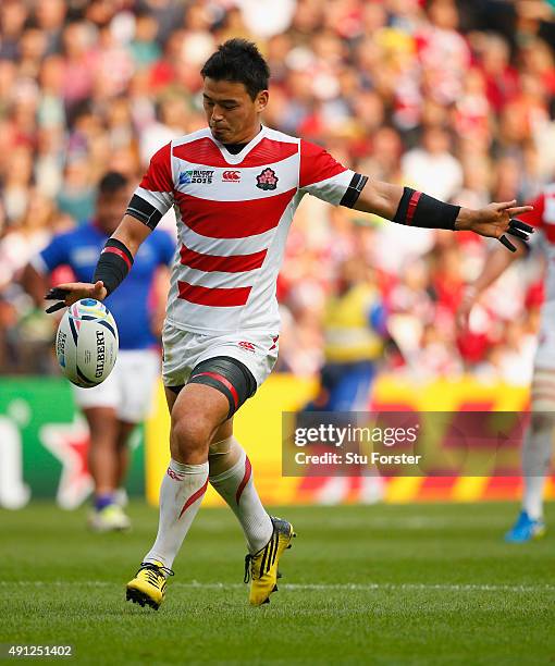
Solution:
[{"label": "red and white hooped jersey of the kicking player", "polygon": [[197,333],[276,332],[295,210],[306,193],[338,205],[354,176],[319,146],[268,127],[237,155],[209,128],[161,148],[135,195],[161,214],[175,209],[168,321]]}]

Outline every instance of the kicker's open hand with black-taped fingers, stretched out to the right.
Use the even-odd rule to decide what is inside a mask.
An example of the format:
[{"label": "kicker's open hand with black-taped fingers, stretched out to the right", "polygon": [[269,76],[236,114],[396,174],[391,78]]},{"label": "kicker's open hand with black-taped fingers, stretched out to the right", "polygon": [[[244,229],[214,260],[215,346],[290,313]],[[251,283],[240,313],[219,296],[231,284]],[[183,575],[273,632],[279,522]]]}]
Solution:
[{"label": "kicker's open hand with black-taped fingers, stretched out to the right", "polygon": [[473,231],[480,236],[497,238],[507,249],[516,252],[517,248],[505,234],[510,234],[525,243],[528,242],[530,239],[528,234],[534,232],[533,226],[514,218],[531,210],[533,210],[532,206],[516,206],[516,200],[490,203],[485,208],[472,211],[461,209],[456,229]]}]

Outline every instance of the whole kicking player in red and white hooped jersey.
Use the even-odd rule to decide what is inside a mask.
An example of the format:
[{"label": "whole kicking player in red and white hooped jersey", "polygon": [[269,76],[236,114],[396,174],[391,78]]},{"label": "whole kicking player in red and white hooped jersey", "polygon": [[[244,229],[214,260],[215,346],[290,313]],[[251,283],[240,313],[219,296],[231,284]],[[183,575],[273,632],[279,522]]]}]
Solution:
[{"label": "whole kicking player in red and white hooped jersey", "polygon": [[[510,246],[527,238],[510,220],[516,201],[470,210],[346,169],[321,147],[261,125],[270,72],[256,45],[231,39],[205,63],[208,126],[160,149],[108,239],[94,283],[69,283],[48,298],[103,300],[127,274],[162,215],[176,211],[181,249],[173,264],[163,331],[163,381],[171,412],[171,460],[160,490],[156,542],[127,599],[158,608],[166,578],[212,483],[237,516],[248,554],[245,581],[259,606],[276,590],[278,564],[293,527],[270,517],[233,416],[272,371],[280,316],[276,280],[293,215],[311,194],[399,224],[469,230]],[[263,446],[264,433],[260,433]]]}]

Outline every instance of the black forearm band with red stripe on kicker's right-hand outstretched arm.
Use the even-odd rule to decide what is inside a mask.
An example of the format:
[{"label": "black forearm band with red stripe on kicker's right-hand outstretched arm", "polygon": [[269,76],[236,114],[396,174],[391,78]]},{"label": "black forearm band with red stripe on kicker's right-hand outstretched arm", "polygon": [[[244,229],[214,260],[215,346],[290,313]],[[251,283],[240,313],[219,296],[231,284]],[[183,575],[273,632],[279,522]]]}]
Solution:
[{"label": "black forearm band with red stripe on kicker's right-hand outstretched arm", "polygon": [[405,187],[393,222],[424,229],[455,230],[460,206],[445,203],[427,194]]}]

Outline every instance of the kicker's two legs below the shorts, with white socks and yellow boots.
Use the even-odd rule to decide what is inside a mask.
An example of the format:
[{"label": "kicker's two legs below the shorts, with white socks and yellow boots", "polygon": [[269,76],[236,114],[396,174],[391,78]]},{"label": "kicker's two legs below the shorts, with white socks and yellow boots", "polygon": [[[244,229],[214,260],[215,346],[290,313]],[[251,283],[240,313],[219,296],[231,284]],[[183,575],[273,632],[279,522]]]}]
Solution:
[{"label": "kicker's two legs below the shorts, with white socks and yellow boots", "polygon": [[227,398],[212,386],[186,385],[178,397],[166,390],[172,417],[171,461],[160,490],[160,523],[155,545],[136,577],[127,599],[158,608],[165,579],[206,492],[209,473],[220,495],[237,516],[249,547],[246,576],[249,601],[260,605],[275,591],[280,556],[294,536],[292,526],[271,518],[254,485],[250,461],[233,437]]}]

